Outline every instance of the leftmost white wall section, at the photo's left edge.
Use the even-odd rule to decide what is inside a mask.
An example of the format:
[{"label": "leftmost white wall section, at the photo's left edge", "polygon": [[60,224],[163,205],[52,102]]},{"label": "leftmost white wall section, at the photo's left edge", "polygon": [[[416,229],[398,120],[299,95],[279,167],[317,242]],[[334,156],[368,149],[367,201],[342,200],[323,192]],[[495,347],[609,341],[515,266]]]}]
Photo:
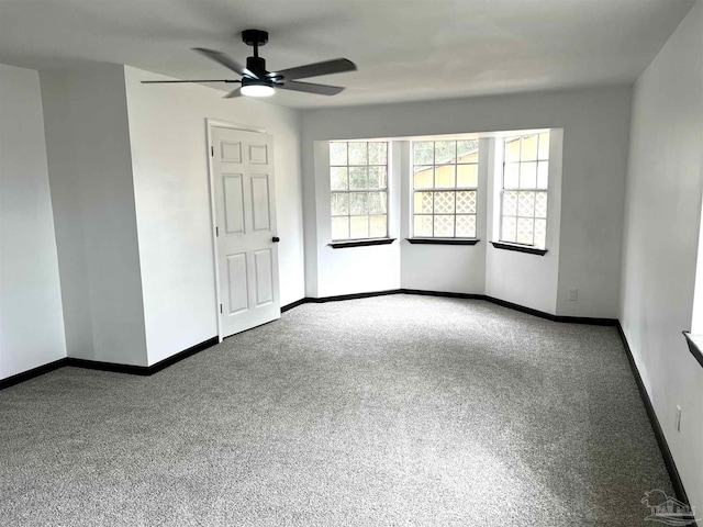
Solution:
[{"label": "leftmost white wall section, at the photo's left edge", "polygon": [[66,356],[40,77],[0,65],[0,379]]}]

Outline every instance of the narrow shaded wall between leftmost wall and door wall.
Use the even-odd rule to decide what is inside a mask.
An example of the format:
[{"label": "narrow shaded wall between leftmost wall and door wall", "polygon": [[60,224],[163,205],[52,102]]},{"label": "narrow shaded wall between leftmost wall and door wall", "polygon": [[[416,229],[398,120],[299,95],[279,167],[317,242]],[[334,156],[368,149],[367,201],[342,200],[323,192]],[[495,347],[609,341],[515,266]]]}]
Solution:
[{"label": "narrow shaded wall between leftmost wall and door wall", "polygon": [[40,78],[68,356],[146,366],[123,68]]}]

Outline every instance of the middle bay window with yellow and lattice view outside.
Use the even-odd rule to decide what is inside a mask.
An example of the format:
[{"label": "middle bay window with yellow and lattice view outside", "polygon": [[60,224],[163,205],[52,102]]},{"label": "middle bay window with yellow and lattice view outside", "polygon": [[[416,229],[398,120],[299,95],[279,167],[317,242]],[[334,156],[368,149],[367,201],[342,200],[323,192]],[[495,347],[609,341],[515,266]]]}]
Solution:
[{"label": "middle bay window with yellow and lattice view outside", "polygon": [[479,142],[413,143],[413,236],[476,238]]}]

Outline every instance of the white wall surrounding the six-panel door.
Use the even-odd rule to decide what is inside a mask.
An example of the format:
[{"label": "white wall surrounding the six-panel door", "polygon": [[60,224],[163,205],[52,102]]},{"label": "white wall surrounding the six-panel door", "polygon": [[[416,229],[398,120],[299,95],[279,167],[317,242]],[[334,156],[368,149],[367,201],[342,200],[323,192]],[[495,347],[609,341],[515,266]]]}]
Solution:
[{"label": "white wall surrounding the six-panel door", "polygon": [[304,296],[299,113],[125,67],[148,362],[217,335],[205,119],[274,136],[281,304]]}]

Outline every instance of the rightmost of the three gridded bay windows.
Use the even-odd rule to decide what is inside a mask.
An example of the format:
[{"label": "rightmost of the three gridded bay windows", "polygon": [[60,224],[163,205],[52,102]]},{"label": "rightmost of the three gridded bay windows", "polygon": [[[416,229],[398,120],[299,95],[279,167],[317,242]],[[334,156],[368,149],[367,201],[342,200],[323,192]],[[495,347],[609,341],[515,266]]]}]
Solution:
[{"label": "rightmost of the three gridded bay windows", "polygon": [[500,240],[545,248],[549,132],[505,138]]}]

